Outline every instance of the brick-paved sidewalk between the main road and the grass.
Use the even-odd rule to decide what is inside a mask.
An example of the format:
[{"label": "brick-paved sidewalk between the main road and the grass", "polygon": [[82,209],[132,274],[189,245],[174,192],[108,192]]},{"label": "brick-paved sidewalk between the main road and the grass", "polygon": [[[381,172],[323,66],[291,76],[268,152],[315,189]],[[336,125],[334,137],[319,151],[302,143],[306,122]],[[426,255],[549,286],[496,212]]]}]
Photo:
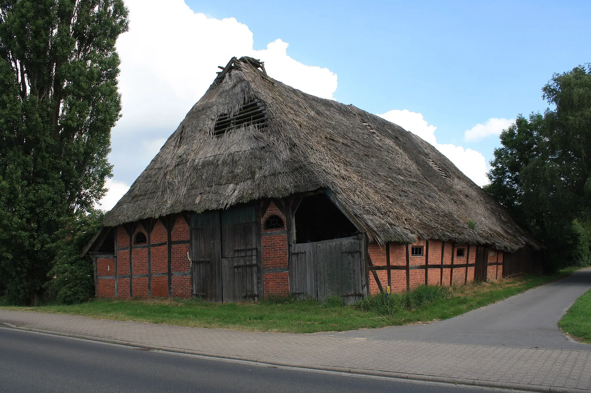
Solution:
[{"label": "brick-paved sidewalk between the main road and the grass", "polygon": [[9,310],[0,310],[0,323],[146,348],[360,374],[543,392],[591,387],[591,351],[239,332]]}]

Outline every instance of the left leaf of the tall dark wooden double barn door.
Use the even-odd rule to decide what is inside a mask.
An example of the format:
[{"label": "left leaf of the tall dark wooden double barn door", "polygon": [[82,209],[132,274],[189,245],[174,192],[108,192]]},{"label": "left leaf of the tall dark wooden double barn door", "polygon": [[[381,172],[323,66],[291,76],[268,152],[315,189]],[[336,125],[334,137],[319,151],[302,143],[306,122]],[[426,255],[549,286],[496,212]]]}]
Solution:
[{"label": "left leaf of the tall dark wooden double barn door", "polygon": [[191,214],[191,273],[193,296],[222,301],[222,255],[219,212]]}]

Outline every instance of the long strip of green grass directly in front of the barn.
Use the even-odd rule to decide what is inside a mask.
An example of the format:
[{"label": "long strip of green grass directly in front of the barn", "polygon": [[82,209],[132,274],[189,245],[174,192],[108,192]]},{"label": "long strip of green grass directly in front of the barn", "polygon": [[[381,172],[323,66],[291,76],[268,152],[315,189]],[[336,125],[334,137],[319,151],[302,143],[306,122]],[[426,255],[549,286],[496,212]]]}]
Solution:
[{"label": "long strip of green grass directly in front of the barn", "polygon": [[574,270],[576,268],[561,270],[554,275],[525,275],[451,289],[423,286],[408,295],[392,294],[388,302],[383,295],[372,296],[357,306],[343,306],[339,298],[328,299],[323,304],[313,300],[273,298],[246,303],[209,303],[196,299],[95,299],[78,305],[0,308],[243,331],[346,331],[451,318],[561,278]]}]

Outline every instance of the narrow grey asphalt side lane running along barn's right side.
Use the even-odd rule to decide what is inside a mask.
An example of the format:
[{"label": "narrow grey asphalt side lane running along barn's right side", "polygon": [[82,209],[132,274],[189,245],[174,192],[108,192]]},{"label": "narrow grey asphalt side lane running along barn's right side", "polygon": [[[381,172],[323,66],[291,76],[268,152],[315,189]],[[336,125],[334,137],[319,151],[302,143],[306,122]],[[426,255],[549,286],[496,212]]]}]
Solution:
[{"label": "narrow grey asphalt side lane running along barn's right side", "polygon": [[570,305],[590,287],[591,269],[577,270],[564,279],[444,321],[321,334],[443,344],[591,351],[591,345],[569,341],[558,328],[558,321]]}]

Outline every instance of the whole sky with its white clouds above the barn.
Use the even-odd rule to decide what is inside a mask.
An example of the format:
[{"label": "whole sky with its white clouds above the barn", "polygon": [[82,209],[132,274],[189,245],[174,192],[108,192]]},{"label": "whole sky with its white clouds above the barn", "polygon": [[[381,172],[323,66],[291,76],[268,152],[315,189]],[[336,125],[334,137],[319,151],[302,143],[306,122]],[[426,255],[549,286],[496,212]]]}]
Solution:
[{"label": "whole sky with its white clouds above the barn", "polygon": [[300,90],[417,134],[476,184],[498,135],[543,112],[556,72],[591,62],[589,1],[126,0],[122,118],[100,208],[128,190],[216,76],[243,55]]}]

